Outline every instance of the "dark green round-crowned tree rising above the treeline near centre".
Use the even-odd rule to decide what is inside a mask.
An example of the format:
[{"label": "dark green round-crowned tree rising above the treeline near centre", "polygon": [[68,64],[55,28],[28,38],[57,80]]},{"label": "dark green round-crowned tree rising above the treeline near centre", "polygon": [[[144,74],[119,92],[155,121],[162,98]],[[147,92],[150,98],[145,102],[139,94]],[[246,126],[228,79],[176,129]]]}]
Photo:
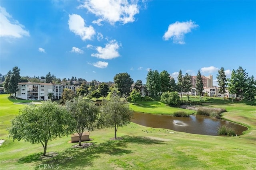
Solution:
[{"label": "dark green round-crowned tree rising above the treeline near centre", "polygon": [[128,96],[130,93],[131,85],[134,83],[132,78],[127,72],[118,73],[114,76],[114,82],[116,84],[116,88],[120,91],[121,95]]}]

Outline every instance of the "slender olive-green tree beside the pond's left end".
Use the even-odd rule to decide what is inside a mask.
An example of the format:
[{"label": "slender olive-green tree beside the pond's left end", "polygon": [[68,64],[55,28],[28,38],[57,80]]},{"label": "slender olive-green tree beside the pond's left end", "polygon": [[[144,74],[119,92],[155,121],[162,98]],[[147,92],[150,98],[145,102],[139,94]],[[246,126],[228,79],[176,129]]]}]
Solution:
[{"label": "slender olive-green tree beside the pond's left end", "polygon": [[110,100],[104,100],[101,110],[105,126],[114,128],[114,139],[116,139],[118,127],[123,127],[130,123],[133,111],[130,110],[129,104],[121,101],[118,96],[111,96]]}]

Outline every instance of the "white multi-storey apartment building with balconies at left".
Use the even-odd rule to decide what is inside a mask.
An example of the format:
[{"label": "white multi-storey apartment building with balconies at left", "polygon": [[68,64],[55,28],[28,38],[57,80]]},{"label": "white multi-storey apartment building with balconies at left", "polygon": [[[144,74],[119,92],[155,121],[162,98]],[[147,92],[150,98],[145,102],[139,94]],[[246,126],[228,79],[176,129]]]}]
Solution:
[{"label": "white multi-storey apartment building with balconies at left", "polygon": [[52,83],[18,83],[16,96],[25,100],[48,100],[48,93],[54,93],[55,99],[60,99],[65,88],[75,91],[74,86]]}]

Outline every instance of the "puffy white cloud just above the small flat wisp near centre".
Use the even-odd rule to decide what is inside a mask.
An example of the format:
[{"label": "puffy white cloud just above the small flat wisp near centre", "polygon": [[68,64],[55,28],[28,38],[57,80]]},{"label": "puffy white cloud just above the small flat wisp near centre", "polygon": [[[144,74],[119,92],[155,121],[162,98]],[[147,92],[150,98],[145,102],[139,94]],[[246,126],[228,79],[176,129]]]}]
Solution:
[{"label": "puffy white cloud just above the small flat wisp near centre", "polygon": [[97,57],[99,59],[114,59],[119,57],[118,49],[121,47],[121,44],[118,44],[116,40],[112,40],[106,44],[105,47],[96,47],[98,53],[93,53],[92,57]]}]

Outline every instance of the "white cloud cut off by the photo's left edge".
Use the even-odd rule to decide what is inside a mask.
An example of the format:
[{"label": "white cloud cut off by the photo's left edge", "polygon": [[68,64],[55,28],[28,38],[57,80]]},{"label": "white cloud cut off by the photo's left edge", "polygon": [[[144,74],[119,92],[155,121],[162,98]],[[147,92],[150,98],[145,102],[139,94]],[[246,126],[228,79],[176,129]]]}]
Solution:
[{"label": "white cloud cut off by the photo's left edge", "polygon": [[0,37],[21,38],[23,36],[29,36],[29,31],[24,29],[24,25],[14,20],[12,16],[6,12],[5,8],[1,6],[0,18]]}]

